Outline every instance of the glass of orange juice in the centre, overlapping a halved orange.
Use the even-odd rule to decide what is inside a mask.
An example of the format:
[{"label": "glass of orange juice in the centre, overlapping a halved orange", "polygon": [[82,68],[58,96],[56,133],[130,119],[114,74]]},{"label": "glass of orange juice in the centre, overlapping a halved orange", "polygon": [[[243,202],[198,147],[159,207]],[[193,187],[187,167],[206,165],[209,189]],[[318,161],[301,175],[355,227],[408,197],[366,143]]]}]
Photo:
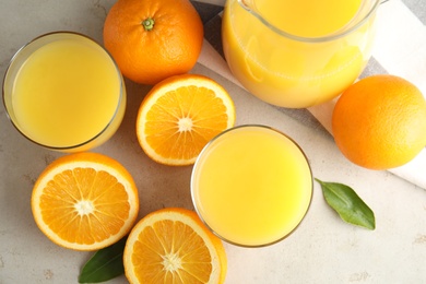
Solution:
[{"label": "glass of orange juice in the centre, overlapping a halved orange", "polygon": [[301,149],[267,126],[226,130],[208,143],[191,176],[201,220],[223,240],[261,247],[288,236],[312,198],[312,174]]}]

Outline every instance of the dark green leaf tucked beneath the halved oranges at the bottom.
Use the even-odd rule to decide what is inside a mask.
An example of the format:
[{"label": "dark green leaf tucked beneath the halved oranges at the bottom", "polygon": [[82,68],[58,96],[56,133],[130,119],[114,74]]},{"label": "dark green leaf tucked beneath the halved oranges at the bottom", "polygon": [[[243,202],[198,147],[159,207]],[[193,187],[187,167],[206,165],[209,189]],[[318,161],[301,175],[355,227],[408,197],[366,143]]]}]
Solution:
[{"label": "dark green leaf tucked beneath the halved oranges at the bottom", "polygon": [[122,253],[126,240],[127,237],[95,252],[84,264],[79,276],[79,283],[99,283],[123,274]]}]

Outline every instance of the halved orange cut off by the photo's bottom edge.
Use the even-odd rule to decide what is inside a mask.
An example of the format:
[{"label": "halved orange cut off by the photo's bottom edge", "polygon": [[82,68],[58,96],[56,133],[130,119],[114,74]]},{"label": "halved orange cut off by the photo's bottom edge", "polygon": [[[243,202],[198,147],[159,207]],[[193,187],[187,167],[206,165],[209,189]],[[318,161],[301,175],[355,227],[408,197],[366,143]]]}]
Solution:
[{"label": "halved orange cut off by the photo's bottom edge", "polygon": [[169,208],[150,213],[131,230],[123,252],[130,283],[224,283],[222,241],[197,213]]}]

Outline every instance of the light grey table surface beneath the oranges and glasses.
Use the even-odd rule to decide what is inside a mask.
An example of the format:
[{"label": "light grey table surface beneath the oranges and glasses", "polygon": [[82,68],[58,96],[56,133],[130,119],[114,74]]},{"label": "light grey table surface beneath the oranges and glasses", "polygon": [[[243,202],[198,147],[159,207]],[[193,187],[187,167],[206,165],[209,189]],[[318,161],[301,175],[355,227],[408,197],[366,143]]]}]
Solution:
[{"label": "light grey table surface beneath the oranges and glasses", "polygon": [[[425,1],[404,3],[426,23]],[[75,31],[102,43],[103,23],[113,4],[109,0],[1,0],[0,74],[23,44],[47,32]],[[309,213],[291,237],[259,249],[225,244],[226,283],[426,283],[424,189],[388,171],[351,164],[306,111],[264,104],[204,66],[198,64],[191,72],[209,75],[227,88],[237,108],[237,125],[263,123],[286,132],[304,149],[316,177],[350,185],[376,214],[377,228],[372,232],[347,225],[326,204],[315,184]],[[116,158],[133,175],[140,191],[141,217],[163,206],[192,209],[191,167],[158,165],[143,154],[137,142],[135,114],[150,87],[128,80],[126,85],[125,120],[113,139],[94,152]],[[0,283],[76,283],[81,267],[92,253],[54,245],[38,230],[29,206],[39,173],[63,154],[23,139],[2,105],[0,130]],[[120,276],[109,283],[127,281]]]}]

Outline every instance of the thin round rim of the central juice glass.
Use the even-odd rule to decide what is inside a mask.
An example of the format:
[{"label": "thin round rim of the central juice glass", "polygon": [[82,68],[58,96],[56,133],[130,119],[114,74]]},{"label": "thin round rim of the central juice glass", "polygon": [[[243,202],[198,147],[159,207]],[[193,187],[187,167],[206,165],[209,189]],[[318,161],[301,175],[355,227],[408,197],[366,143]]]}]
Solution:
[{"label": "thin round rim of the central juice glass", "polygon": [[[304,156],[305,161],[306,161],[306,164],[308,166],[308,169],[309,169],[309,174],[310,174],[310,198],[309,198],[309,201],[308,201],[308,205],[306,208],[306,211],[305,213],[303,214],[300,221],[297,223],[297,225],[292,228],[292,230],[289,230],[287,234],[285,234],[284,236],[275,239],[275,240],[272,240],[272,241],[269,241],[269,242],[265,242],[265,244],[259,244],[259,245],[247,245],[247,244],[240,244],[240,242],[236,242],[236,241],[233,241],[230,239],[227,239],[225,237],[223,237],[222,235],[220,235],[215,229],[213,229],[208,223],[203,218],[202,214],[200,213],[200,210],[199,208],[197,206],[197,202],[196,202],[196,189],[194,189],[194,176],[196,176],[196,169],[198,167],[198,164],[200,163],[203,154],[208,151],[208,149],[217,140],[220,139],[221,137],[223,137],[224,134],[228,133],[228,132],[232,132],[232,131],[235,131],[235,130],[238,130],[238,129],[241,129],[241,128],[262,128],[262,129],[268,129],[268,130],[272,130],[281,135],[283,135],[284,138],[286,138],[288,141],[291,141],[301,153],[301,155]],[[273,128],[273,127],[270,127],[270,126],[265,126],[265,125],[256,125],[256,123],[248,123],[248,125],[240,125],[240,126],[235,126],[235,127],[232,127],[232,128],[228,128],[224,131],[222,131],[221,133],[218,133],[216,137],[214,137],[212,140],[210,140],[205,145],[204,147],[201,150],[200,154],[198,155],[197,159],[196,159],[196,163],[192,167],[192,173],[191,173],[191,178],[190,178],[190,192],[191,192],[191,200],[192,200],[192,204],[193,204],[193,208],[197,212],[197,215],[200,217],[201,222],[210,229],[210,232],[212,232],[215,236],[217,236],[220,239],[222,239],[223,241],[226,241],[227,244],[230,244],[230,245],[234,245],[234,246],[238,246],[238,247],[244,247],[244,248],[261,248],[261,247],[268,247],[268,246],[271,246],[271,245],[274,245],[274,244],[277,244],[284,239],[286,239],[287,237],[289,237],[291,235],[293,235],[293,233],[300,226],[300,224],[304,222],[306,215],[308,214],[308,211],[310,210],[310,206],[311,206],[311,203],[312,203],[312,199],[313,199],[313,175],[312,175],[312,169],[310,167],[310,163],[309,163],[309,159],[308,159],[308,156],[305,154],[305,152],[303,151],[303,149],[300,147],[300,145],[294,140],[292,139],[289,135],[287,135],[286,133],[284,133],[283,131],[276,129],[276,128]]]}]

